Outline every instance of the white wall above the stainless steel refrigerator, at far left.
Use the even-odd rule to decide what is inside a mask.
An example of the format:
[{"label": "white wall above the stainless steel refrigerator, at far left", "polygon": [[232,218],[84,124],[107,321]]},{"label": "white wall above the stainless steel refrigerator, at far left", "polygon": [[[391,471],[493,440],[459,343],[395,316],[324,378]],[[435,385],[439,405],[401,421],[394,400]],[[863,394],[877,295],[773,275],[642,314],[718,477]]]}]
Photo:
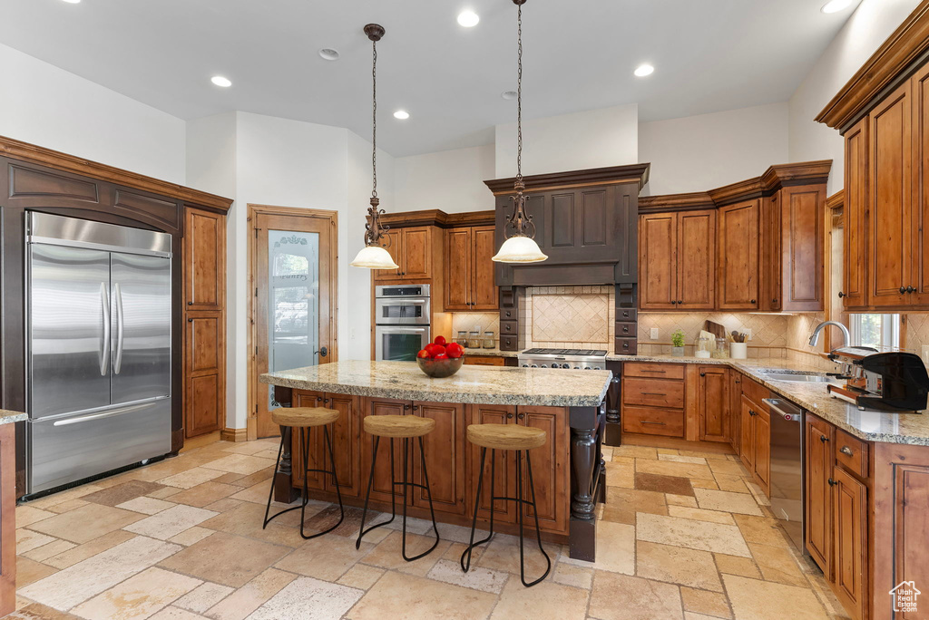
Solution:
[{"label": "white wall above the stainless steel refrigerator, at far left", "polygon": [[185,123],[0,45],[0,136],[185,182]]}]

